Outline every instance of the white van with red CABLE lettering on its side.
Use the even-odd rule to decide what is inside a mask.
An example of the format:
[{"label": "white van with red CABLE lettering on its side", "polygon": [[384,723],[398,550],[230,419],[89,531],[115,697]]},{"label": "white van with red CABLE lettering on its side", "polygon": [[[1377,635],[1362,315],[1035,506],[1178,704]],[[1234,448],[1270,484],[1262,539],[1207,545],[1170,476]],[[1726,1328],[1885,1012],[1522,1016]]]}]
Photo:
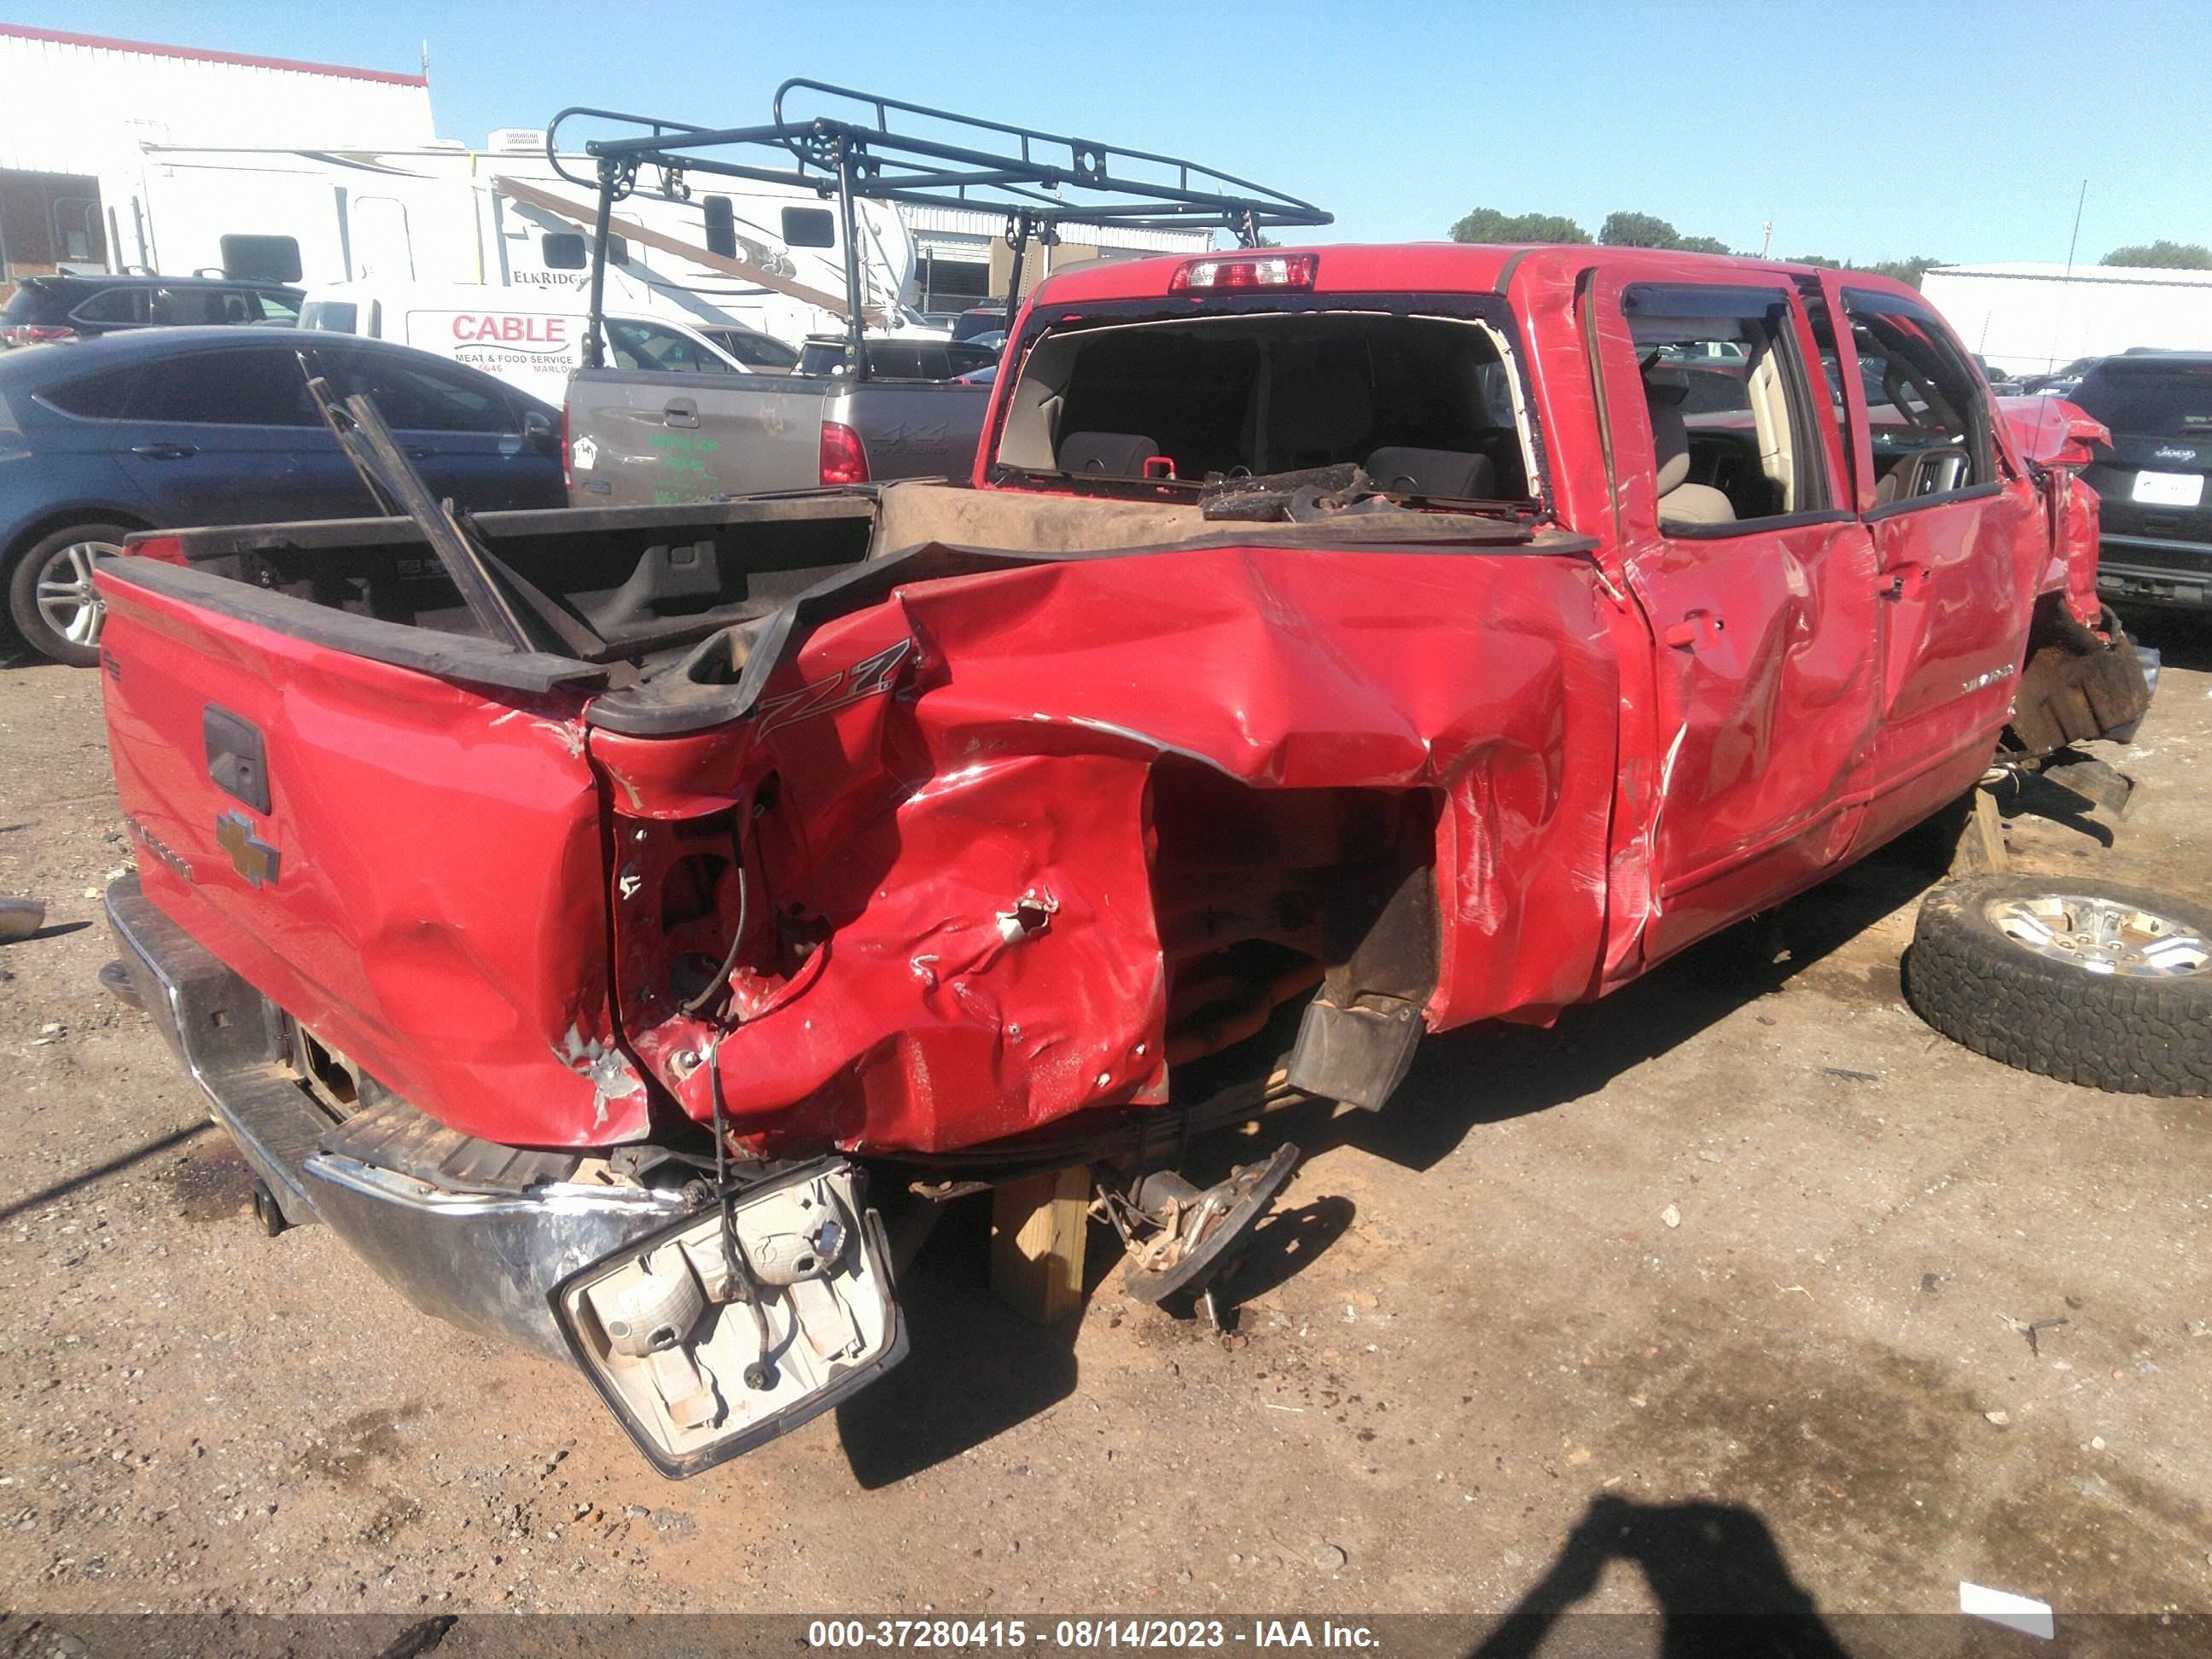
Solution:
[{"label": "white van with red CABLE lettering on its side", "polygon": [[[467,283],[330,283],[310,288],[299,307],[301,327],[436,352],[555,407],[584,363],[586,316],[568,294]],[[748,374],[686,323],[622,312],[606,316],[606,361],[619,369]]]}]

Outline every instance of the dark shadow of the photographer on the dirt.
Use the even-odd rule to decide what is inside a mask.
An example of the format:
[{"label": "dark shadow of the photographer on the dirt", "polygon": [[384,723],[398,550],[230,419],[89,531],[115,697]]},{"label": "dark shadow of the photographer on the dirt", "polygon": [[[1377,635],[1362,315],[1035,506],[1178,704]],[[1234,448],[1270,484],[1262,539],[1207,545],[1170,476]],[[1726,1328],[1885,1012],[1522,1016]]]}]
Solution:
[{"label": "dark shadow of the photographer on the dirt", "polygon": [[[1659,1604],[1666,1659],[1849,1659],[1783,1562],[1774,1533],[1736,1504],[1639,1504],[1597,1495],[1566,1544],[1471,1659],[1533,1659],[1610,1562],[1632,1562]],[[1562,1650],[1575,1650],[1573,1639]]]}]

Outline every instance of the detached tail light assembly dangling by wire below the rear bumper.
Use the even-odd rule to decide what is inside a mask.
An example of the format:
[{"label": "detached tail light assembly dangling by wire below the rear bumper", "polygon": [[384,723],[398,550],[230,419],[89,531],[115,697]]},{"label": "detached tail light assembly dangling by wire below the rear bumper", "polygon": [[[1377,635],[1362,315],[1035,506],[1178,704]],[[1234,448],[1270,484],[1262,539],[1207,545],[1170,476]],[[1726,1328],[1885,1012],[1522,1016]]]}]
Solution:
[{"label": "detached tail light assembly dangling by wire below the rear bumper", "polygon": [[[553,1287],[575,1363],[670,1480],[752,1451],[907,1356],[883,1219],[823,1159]],[[763,1340],[765,1334],[765,1340]]]}]

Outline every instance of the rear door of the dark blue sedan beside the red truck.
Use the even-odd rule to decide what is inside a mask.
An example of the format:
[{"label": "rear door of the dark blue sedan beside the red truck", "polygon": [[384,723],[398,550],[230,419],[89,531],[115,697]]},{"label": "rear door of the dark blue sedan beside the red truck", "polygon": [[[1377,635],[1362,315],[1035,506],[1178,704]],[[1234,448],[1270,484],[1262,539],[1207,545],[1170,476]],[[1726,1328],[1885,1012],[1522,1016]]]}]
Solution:
[{"label": "rear door of the dark blue sedan beside the red truck", "polygon": [[372,511],[285,341],[144,365],[117,460],[159,524],[265,524]]}]

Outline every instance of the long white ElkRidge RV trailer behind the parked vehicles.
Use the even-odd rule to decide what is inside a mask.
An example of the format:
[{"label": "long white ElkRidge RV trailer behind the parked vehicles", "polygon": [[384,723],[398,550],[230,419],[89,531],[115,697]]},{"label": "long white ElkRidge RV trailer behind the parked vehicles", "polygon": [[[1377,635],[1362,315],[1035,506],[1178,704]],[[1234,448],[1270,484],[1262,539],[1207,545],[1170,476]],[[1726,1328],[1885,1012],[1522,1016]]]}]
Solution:
[{"label": "long white ElkRidge RV trailer behind the parked vehicles", "polygon": [[[593,192],[562,179],[544,135],[495,148],[250,150],[146,144],[102,175],[117,270],[221,270],[301,285],[482,283],[571,290],[591,281]],[[513,148],[504,148],[513,144]],[[562,157],[588,179],[588,157]],[[803,341],[843,325],[845,248],[834,204],[810,190],[701,179],[688,199],[655,175],[617,204],[608,307],[681,323],[739,323]],[[878,323],[909,319],[914,243],[889,204],[858,204],[860,281]],[[624,237],[624,226],[633,234]],[[714,243],[708,263],[686,250]],[[914,319],[918,321],[918,319]]]}]

